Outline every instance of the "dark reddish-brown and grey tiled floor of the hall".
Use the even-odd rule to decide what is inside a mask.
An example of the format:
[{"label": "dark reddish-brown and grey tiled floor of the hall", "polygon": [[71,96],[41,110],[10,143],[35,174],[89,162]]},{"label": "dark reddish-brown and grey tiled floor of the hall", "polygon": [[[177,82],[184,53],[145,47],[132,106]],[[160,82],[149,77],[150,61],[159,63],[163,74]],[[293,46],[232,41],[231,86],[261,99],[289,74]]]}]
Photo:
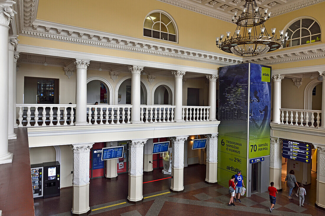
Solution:
[{"label": "dark reddish-brown and grey tiled floor of the hall", "polygon": [[[195,173],[195,175],[193,175]],[[143,181],[165,177],[160,170],[144,175]],[[195,177],[193,177],[195,176]],[[305,201],[304,207],[299,207],[298,200],[289,200],[286,192],[279,192],[277,204],[272,213],[268,193],[256,193],[250,198],[242,198],[236,206],[227,206],[229,202],[228,189],[219,185],[204,183],[205,165],[192,165],[184,170],[184,193],[174,194],[169,191],[170,179],[145,183],[141,204],[123,203],[127,197],[128,175],[119,175],[116,181],[104,178],[92,179],[90,182],[90,215],[324,215],[325,212],[314,207],[314,203]],[[167,193],[166,193],[167,192]],[[166,193],[147,198],[148,196]],[[72,207],[72,188],[61,189],[59,197],[35,200],[35,215],[70,215]],[[308,205],[309,203],[309,205]],[[102,208],[102,209],[98,209]],[[98,210],[96,210],[98,209]]]}]

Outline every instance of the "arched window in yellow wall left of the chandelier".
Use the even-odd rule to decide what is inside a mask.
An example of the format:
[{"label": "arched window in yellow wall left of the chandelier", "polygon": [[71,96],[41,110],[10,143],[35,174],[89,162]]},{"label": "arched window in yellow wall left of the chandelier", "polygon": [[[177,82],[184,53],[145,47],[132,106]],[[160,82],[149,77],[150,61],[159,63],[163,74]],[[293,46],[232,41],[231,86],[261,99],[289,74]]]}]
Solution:
[{"label": "arched window in yellow wall left of the chandelier", "polygon": [[147,15],[143,24],[143,36],[177,42],[177,26],[171,16],[160,11]]}]

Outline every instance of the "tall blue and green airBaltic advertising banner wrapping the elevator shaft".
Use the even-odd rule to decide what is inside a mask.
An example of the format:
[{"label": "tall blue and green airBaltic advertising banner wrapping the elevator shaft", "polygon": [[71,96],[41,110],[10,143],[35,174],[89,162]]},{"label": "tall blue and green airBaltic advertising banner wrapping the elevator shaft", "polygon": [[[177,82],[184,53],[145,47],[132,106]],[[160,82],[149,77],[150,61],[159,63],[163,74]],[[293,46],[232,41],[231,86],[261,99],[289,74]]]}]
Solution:
[{"label": "tall blue and green airBaltic advertising banner wrapping the elevator shaft", "polygon": [[246,182],[248,159],[270,154],[270,81],[268,66],[247,63],[219,68],[220,185],[228,187],[239,170]]}]

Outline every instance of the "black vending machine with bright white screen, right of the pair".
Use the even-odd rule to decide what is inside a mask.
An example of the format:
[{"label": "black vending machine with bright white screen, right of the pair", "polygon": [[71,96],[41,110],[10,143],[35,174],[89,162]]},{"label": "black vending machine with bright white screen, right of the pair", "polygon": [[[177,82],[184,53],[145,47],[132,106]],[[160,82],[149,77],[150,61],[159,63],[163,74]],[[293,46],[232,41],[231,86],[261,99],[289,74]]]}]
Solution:
[{"label": "black vending machine with bright white screen, right of the pair", "polygon": [[43,163],[43,198],[60,196],[59,161]]}]

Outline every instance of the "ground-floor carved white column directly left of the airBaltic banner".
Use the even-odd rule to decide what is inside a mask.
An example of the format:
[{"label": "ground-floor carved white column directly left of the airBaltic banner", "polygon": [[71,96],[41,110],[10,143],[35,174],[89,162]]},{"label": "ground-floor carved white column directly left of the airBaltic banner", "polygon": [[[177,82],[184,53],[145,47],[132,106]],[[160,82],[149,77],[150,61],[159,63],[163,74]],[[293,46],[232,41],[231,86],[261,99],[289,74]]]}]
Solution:
[{"label": "ground-floor carved white column directly left of the airBaltic banner", "polygon": [[206,177],[205,183],[217,184],[217,163],[218,163],[218,133],[205,135],[206,143]]}]

